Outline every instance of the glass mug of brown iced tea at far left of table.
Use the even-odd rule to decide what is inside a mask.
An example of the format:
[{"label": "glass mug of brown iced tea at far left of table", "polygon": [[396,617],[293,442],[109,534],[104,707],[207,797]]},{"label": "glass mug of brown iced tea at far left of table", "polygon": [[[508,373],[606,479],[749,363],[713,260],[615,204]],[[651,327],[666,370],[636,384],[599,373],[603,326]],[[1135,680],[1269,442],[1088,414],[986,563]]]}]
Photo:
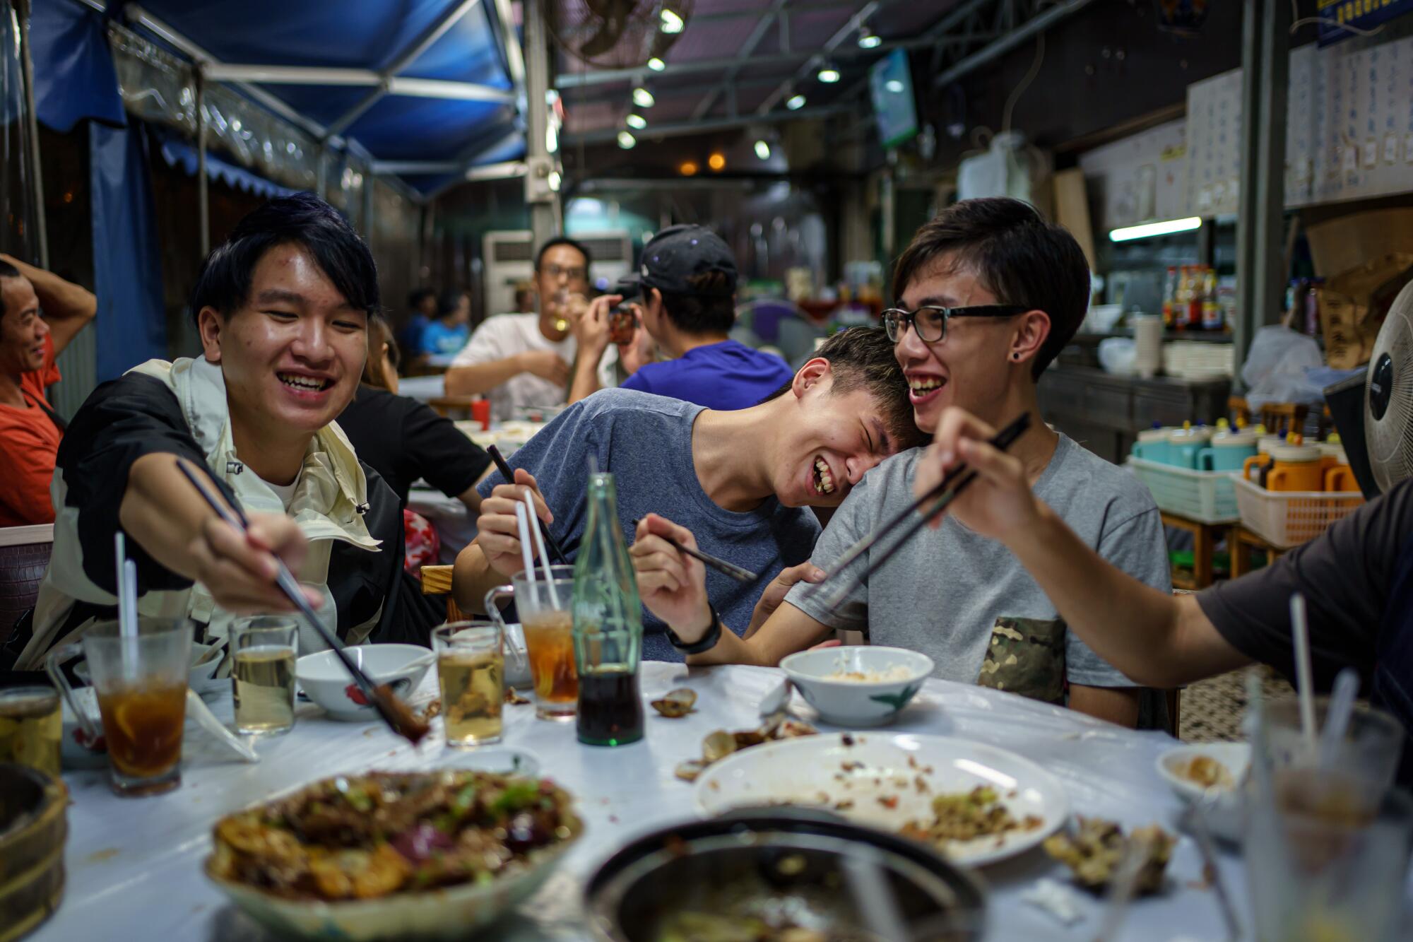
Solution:
[{"label": "glass mug of brown iced tea at far left of table", "polygon": [[138,618],[133,635],[123,635],[116,621],[103,621],[81,641],[48,653],[49,678],[68,697],[83,731],[97,738],[99,730],[78,707],[61,670],[79,655],[88,661],[107,741],[109,781],[119,795],[160,795],[181,785],[192,631],[185,618]]}]

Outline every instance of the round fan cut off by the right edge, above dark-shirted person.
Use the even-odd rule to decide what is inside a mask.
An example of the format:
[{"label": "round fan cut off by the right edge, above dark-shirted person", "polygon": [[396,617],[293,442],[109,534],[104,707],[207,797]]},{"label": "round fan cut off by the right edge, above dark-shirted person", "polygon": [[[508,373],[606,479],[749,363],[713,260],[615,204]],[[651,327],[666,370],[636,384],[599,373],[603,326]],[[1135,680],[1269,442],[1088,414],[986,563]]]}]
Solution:
[{"label": "round fan cut off by the right edge, above dark-shirted person", "polygon": [[1388,492],[1413,477],[1413,283],[1393,298],[1373,341],[1364,406],[1369,467]]}]

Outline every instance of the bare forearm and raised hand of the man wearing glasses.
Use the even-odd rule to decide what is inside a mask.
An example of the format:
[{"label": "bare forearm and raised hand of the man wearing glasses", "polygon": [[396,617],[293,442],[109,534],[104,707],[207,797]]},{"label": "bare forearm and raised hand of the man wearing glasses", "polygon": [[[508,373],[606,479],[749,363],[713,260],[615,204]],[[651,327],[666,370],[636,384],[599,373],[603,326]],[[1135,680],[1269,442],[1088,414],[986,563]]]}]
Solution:
[{"label": "bare forearm and raised hand of the man wearing glasses", "polygon": [[[681,641],[692,644],[711,628],[706,570],[698,560],[678,552],[663,539],[664,536],[697,549],[697,537],[691,530],[657,513],[649,513],[639,521],[633,546],[629,549],[633,569],[637,571],[637,591],[649,611],[667,622]],[[779,605],[749,639],[739,638],[731,627],[723,625],[716,645],[711,651],[688,655],[687,663],[749,663],[773,668],[781,658],[804,651],[828,631],[828,625],[786,603]]]}]

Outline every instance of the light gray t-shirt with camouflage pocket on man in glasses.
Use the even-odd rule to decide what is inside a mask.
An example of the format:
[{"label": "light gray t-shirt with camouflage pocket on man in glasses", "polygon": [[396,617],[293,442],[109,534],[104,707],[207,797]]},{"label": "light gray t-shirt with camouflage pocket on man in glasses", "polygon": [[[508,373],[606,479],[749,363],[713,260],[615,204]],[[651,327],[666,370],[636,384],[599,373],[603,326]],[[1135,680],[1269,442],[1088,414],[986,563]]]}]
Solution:
[{"label": "light gray t-shirt with camouflage pocket on man in glasses", "polygon": [[[855,540],[911,504],[921,454],[920,448],[904,451],[863,475],[820,536],[811,556],[815,566],[829,569]],[[1034,492],[1099,556],[1171,591],[1157,506],[1132,474],[1061,434]],[[885,539],[873,552],[890,546]],[[866,559],[851,569],[862,570]],[[1009,549],[950,516],[937,530],[920,530],[911,546],[831,611],[825,604],[836,587],[834,580],[800,583],[786,601],[831,628],[865,631],[872,644],[926,653],[937,663],[937,678],[1050,703],[1064,702],[1064,680],[1135,686],[1065,631],[1056,607]]]}]

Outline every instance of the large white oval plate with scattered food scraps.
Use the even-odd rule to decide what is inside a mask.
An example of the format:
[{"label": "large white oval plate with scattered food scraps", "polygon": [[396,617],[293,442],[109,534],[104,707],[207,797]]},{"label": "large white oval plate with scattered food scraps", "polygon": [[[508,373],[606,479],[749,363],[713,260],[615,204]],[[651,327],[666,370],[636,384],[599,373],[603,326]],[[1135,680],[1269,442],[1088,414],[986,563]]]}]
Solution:
[{"label": "large white oval plate with scattered food scraps", "polygon": [[[965,840],[948,837],[969,822],[958,820],[957,809],[948,809],[948,820],[940,822],[934,799],[961,801],[978,788],[992,791],[989,808],[1005,810],[1009,829],[983,827],[982,836]],[[911,733],[829,733],[743,750],[701,774],[697,805],[711,816],[736,808],[796,805],[832,810],[887,832],[901,832],[910,823],[937,826],[930,843],[972,867],[1030,850],[1070,816],[1060,779],[1030,760],[971,740]]]}]

